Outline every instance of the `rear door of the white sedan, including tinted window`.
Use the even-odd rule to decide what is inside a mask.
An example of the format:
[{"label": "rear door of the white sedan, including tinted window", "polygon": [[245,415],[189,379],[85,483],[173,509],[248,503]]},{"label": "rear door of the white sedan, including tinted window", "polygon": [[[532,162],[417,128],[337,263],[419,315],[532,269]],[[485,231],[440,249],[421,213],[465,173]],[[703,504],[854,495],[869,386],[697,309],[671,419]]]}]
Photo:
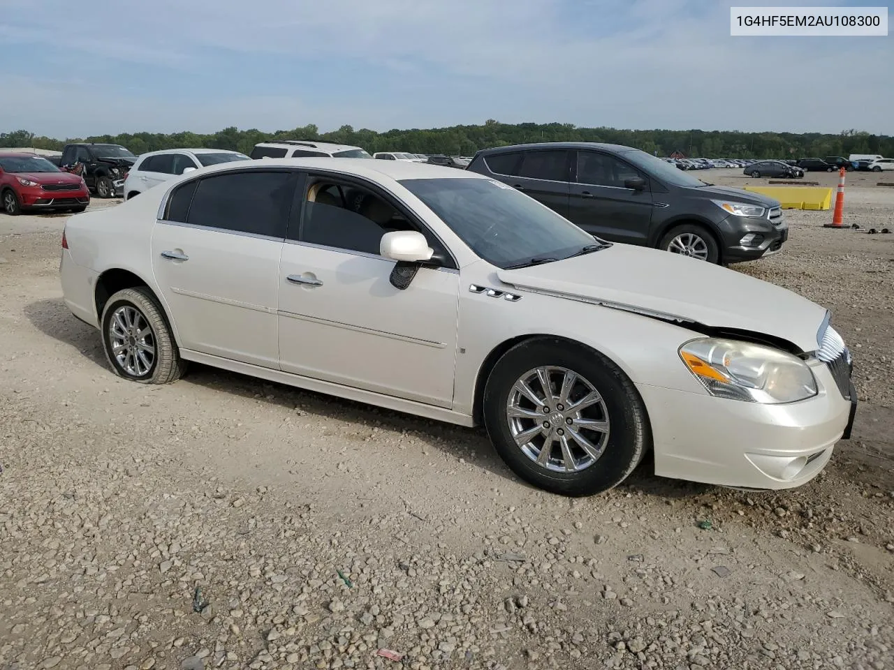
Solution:
[{"label": "rear door of the white sedan, including tinted window", "polygon": [[152,266],[181,348],[279,366],[277,271],[298,173],[224,172],[173,190]]}]

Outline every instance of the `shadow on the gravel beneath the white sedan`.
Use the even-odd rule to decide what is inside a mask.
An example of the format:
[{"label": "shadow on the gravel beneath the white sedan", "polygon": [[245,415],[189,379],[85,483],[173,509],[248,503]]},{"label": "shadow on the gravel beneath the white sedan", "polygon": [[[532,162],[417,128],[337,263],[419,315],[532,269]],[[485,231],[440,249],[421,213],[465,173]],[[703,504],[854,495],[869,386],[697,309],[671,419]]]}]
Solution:
[{"label": "shadow on the gravel beneath the white sedan", "polygon": [[[77,349],[92,363],[105,370],[108,369],[98,331],[72,316],[62,298],[31,303],[25,306],[24,313],[38,331],[67,347]],[[484,468],[503,479],[510,480],[513,485],[520,484],[528,490],[536,490],[536,487],[521,481],[503,464],[502,458],[493,450],[484,428],[465,428],[402,414],[246,374],[231,373],[204,364],[190,363],[190,368],[180,383],[195,384],[242,398],[263,400],[333,423],[349,422],[359,424],[370,431],[377,429],[411,434],[425,445],[423,448],[438,449],[447,456],[457,460],[462,458],[469,465]],[[619,490],[632,495],[657,498],[691,498],[715,489],[707,484],[657,477],[653,474],[653,469],[654,461],[652,454],[649,453],[620,485]]]}]

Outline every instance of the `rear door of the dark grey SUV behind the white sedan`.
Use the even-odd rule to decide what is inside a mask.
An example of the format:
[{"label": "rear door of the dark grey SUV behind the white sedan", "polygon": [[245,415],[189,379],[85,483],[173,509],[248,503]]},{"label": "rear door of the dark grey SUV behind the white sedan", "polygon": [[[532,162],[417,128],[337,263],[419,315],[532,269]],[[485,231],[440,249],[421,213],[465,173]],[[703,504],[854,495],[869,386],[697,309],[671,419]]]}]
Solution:
[{"label": "rear door of the dark grey SUV behind the white sedan", "polygon": [[[494,155],[485,159],[502,172],[501,181],[533,197],[554,212],[568,216],[571,152],[567,149],[534,149],[519,154]],[[508,156],[516,156],[514,162]]]}]

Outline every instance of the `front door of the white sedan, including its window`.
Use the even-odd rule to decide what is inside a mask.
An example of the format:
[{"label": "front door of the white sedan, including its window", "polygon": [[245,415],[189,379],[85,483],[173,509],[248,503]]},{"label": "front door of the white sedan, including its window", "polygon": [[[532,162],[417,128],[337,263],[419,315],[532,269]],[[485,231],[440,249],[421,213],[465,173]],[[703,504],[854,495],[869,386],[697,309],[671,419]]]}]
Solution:
[{"label": "front door of the white sedan, including its window", "polygon": [[409,287],[395,288],[395,263],[378,254],[391,230],[420,230],[445,255],[382,192],[308,177],[300,231],[290,230],[280,263],[280,364],[287,373],[449,407],[460,275],[423,267]]}]

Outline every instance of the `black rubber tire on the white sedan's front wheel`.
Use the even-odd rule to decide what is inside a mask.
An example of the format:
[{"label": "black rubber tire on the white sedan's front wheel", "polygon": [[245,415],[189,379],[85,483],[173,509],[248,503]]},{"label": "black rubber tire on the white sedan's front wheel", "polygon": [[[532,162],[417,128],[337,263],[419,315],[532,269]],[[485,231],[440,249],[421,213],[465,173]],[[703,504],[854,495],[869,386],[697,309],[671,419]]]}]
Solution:
[{"label": "black rubber tire on the white sedan's front wheel", "polygon": [[[517,382],[532,373],[536,376],[534,371],[538,368],[552,371],[548,378],[552,382],[551,386],[554,386],[551,389],[553,400],[558,399],[557,394],[561,393],[558,388],[563,374],[561,370],[569,370],[578,375],[578,381],[575,382],[578,385],[572,387],[569,398],[579,402],[586,397],[591,387],[598,392],[600,401],[584,411],[591,413],[586,417],[591,420],[607,420],[607,432],[586,428],[578,428],[577,431],[590,445],[598,448],[595,458],[587,455],[574,438],[569,438],[574,431],[568,430],[561,437],[556,437],[558,431],[564,428],[552,431],[552,424],[549,429],[544,429],[551,430],[555,440],[547,452],[549,466],[540,465],[536,461],[537,452],[543,453],[543,433],[534,436],[524,448],[519,447],[513,437],[513,430],[517,434],[518,431],[527,430],[528,425],[533,428],[540,424],[542,427],[544,422],[539,418],[510,419],[508,407],[516,398]],[[529,384],[528,389],[535,394],[539,390],[540,395],[544,395],[543,387],[536,389],[535,386]],[[529,400],[527,405],[536,407]],[[552,406],[550,409],[556,410],[557,407],[558,405]],[[566,411],[567,409],[565,407]],[[536,411],[538,417],[540,414],[540,411]],[[567,341],[556,338],[528,339],[511,348],[497,361],[485,385],[484,416],[485,427],[493,446],[512,472],[540,489],[562,496],[592,496],[617,486],[636,469],[645,452],[652,447],[652,433],[645,405],[628,376],[593,349],[581,345],[569,346]],[[544,417],[549,416],[552,415],[544,413]],[[554,420],[558,421],[558,417]],[[514,429],[511,421],[516,422]],[[567,426],[567,420],[559,425]],[[562,438],[570,445],[575,464],[582,465],[572,472],[561,466],[565,462],[559,441]]]}]

